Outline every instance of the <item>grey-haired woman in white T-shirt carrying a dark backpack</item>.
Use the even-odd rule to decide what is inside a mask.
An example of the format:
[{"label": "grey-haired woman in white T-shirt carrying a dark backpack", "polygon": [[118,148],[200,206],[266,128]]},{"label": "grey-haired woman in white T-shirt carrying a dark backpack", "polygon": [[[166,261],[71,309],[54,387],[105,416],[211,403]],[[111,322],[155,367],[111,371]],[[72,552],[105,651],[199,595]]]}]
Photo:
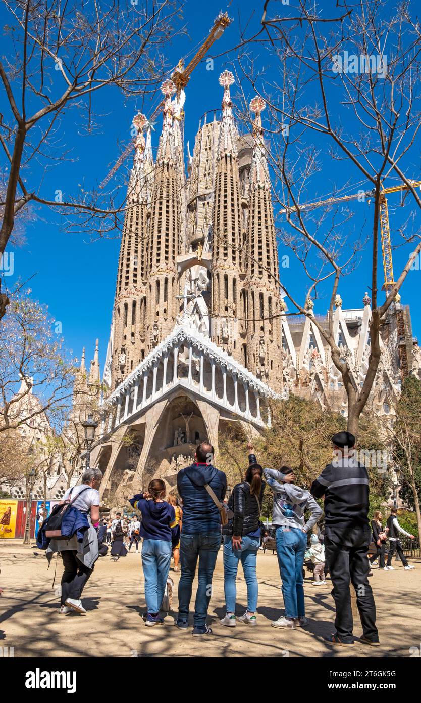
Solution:
[{"label": "grey-haired woman in white T-shirt carrying a dark backpack", "polygon": [[[65,615],[76,612],[85,615],[86,610],[81,602],[81,595],[86,582],[91,577],[95,561],[98,559],[98,536],[95,526],[100,519],[99,487],[102,471],[88,468],[83,472],[81,484],[67,489],[60,505],[69,500],[72,508],[86,515],[89,523],[88,530],[83,536],[83,542],[78,541],[76,533],[68,540],[51,539],[48,545],[47,557],[53,552],[60,552],[65,570],[61,579],[61,608]],[[46,521],[47,522],[47,521]]]}]

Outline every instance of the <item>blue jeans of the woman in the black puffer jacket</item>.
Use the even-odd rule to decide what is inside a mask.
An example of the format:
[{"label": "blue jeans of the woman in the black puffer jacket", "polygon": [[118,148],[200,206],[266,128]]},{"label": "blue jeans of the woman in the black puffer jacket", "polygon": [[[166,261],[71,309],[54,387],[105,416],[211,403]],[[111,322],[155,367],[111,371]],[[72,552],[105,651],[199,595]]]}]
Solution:
[{"label": "blue jeans of the woman in the black puffer jacket", "polygon": [[234,549],[231,537],[224,537],[224,591],[227,613],[235,612],[236,586],[235,579],[239,562],[243,567],[244,579],[247,584],[247,610],[256,612],[258,607],[259,585],[256,576],[256,557],[260,539],[258,537],[243,536],[241,549]]}]

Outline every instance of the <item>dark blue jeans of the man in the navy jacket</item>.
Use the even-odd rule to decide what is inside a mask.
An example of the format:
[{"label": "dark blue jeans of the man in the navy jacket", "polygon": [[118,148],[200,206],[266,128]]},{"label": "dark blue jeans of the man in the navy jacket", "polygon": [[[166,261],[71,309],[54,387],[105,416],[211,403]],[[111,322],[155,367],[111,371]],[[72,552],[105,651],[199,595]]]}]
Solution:
[{"label": "dark blue jeans of the man in the navy jacket", "polygon": [[180,537],[181,576],[178,582],[178,619],[187,620],[189,605],[192,598],[192,583],[196,574],[196,564],[199,559],[199,584],[194,604],[194,626],[203,627],[212,593],[212,576],[215,569],[216,557],[221,546],[221,533],[199,532],[185,534]]}]

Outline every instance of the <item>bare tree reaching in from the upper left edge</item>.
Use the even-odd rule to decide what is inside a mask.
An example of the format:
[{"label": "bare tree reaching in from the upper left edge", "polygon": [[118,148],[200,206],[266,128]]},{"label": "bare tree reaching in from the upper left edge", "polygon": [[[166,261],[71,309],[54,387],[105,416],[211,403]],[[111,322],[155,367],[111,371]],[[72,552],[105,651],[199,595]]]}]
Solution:
[{"label": "bare tree reaching in from the upper left edge", "polygon": [[[62,118],[76,111],[86,134],[97,125],[96,93],[117,89],[126,96],[156,90],[166,65],[161,48],[177,32],[178,0],[3,0],[10,21],[8,46],[0,61],[0,84],[7,110],[0,115],[0,143],[8,179],[0,209],[0,255],[13,233],[16,217],[29,203],[58,209],[116,226],[124,205],[102,191],[68,200],[43,194],[42,179],[32,175],[36,161],[44,169],[62,161],[68,146]],[[58,137],[60,149],[55,148]],[[27,175],[27,178],[25,176]],[[98,224],[98,228],[100,228]],[[0,317],[8,295],[0,295]]]}]

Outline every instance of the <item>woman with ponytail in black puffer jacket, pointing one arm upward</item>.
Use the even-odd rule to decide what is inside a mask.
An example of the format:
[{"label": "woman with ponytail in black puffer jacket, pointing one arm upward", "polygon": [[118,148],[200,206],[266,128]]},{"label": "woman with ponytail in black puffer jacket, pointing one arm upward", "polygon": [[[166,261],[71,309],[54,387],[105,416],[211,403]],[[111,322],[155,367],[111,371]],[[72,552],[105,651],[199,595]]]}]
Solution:
[{"label": "woman with ponytail in black puffer jacket, pointing one arm upward", "polygon": [[265,483],[262,481],[263,469],[258,463],[252,463],[246,471],[246,478],[234,486],[228,506],[234,517],[223,529],[224,535],[224,589],[227,614],[220,621],[227,627],[236,626],[235,579],[239,562],[243,567],[247,584],[247,610],[239,617],[246,625],[257,625],[255,612],[258,607],[258,579],[256,576],[256,557],[260,545],[260,509],[262,506]]}]

